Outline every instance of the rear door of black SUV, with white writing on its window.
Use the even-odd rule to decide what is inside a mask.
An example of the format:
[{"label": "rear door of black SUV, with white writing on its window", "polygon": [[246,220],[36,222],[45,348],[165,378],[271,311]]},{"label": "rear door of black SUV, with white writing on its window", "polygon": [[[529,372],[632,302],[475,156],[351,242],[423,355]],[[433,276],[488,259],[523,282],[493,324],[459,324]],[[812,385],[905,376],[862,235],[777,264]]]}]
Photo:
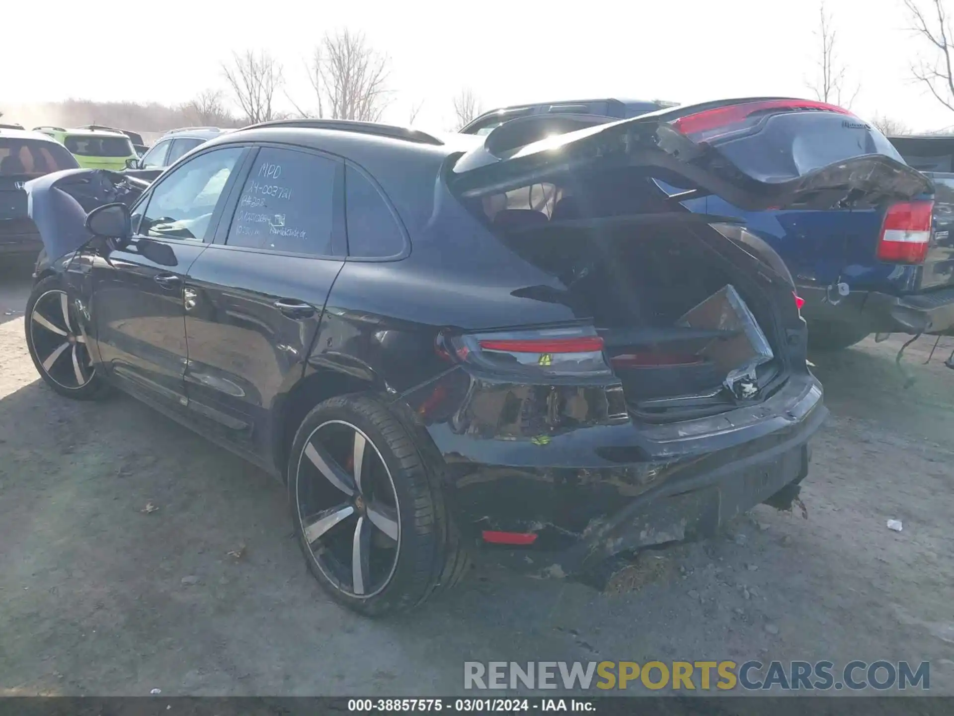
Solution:
[{"label": "rear door of black SUV, with white writing on its window", "polygon": [[297,383],[345,252],[343,163],[263,145],[216,242],[185,285],[188,405],[246,453],[272,454],[272,417]]}]

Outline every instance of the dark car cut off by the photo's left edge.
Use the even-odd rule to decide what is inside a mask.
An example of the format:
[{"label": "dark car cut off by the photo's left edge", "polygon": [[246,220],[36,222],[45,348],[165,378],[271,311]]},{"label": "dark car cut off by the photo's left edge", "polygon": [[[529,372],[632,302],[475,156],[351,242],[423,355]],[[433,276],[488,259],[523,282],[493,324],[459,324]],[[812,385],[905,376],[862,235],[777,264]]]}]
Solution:
[{"label": "dark car cut off by the photo's left edge", "polygon": [[32,261],[43,248],[27,214],[26,182],[78,166],[55,139],[19,125],[0,125],[0,260],[25,257]]}]

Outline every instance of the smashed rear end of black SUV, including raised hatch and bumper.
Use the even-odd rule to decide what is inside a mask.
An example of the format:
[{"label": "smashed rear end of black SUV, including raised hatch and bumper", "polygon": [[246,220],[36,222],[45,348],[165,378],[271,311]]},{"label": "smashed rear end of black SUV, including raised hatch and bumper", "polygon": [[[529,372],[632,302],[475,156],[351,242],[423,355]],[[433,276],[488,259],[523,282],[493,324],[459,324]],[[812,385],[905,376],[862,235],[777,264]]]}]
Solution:
[{"label": "smashed rear end of black SUV, including raised hatch and bumper", "polygon": [[[418,391],[474,537],[517,565],[570,574],[712,534],[759,502],[791,506],[827,414],[800,299],[771,248],[679,202],[812,209],[931,191],[893,158],[827,156],[843,119],[776,98],[612,124],[529,117],[457,159],[451,191],[549,279],[510,294],[566,320],[448,330],[441,350],[459,368]],[[514,273],[518,263],[499,265],[495,281]],[[518,321],[534,319],[498,325]],[[447,395],[459,397],[438,418]]]}]

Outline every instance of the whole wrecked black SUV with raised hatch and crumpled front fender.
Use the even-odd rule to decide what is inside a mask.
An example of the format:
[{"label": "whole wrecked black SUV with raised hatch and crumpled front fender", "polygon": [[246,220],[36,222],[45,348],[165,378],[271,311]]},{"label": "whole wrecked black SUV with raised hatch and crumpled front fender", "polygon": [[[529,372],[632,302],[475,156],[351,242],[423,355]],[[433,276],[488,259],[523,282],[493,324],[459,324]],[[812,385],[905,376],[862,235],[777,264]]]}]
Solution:
[{"label": "whole wrecked black SUV with raised hatch and crumpled front fender", "polygon": [[[923,178],[824,153],[793,176],[793,147],[824,141],[798,109],[813,131],[771,154],[680,134],[732,131],[731,106],[559,137],[552,117],[445,139],[269,122],[88,217],[62,200],[90,203],[82,172],[36,179],[31,357],[63,395],[124,390],[283,480],[309,568],[367,614],[425,600],[478,546],[582,574],[790,507],[826,415],[791,277],[651,179],[757,209]],[[751,153],[774,179],[739,168]]]}]

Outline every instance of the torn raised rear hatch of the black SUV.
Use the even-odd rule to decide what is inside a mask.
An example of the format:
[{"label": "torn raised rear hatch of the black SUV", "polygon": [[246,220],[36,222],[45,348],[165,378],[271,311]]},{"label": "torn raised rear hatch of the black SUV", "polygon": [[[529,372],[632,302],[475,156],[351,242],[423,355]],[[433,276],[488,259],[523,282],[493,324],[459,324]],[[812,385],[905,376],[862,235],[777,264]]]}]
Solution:
[{"label": "torn raised rear hatch of the black SUV", "polygon": [[515,133],[501,125],[457,160],[449,183],[462,197],[596,164],[642,167],[751,211],[870,206],[933,194],[930,179],[904,164],[877,130],[840,107],[801,99],[679,107],[523,146],[502,141],[508,134]]}]

